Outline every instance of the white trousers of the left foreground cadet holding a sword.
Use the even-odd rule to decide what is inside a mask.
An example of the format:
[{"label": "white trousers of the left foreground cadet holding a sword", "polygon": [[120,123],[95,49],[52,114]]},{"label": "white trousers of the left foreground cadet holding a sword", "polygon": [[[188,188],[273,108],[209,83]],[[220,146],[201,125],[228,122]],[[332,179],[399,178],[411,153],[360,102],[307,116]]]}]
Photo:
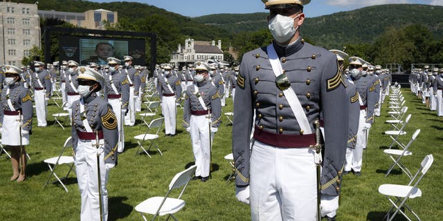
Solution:
[{"label": "white trousers of the left foreground cadet holding a sword", "polygon": [[75,153],[75,172],[77,173],[78,189],[82,198],[80,220],[100,220],[100,197],[98,195],[98,168],[97,152],[100,153],[100,181],[102,194],[103,220],[108,217],[108,191],[106,184],[109,170],[115,164],[105,164],[103,160],[103,140],[100,140],[99,151],[95,147],[96,142],[91,140],[78,140],[77,152]]}]

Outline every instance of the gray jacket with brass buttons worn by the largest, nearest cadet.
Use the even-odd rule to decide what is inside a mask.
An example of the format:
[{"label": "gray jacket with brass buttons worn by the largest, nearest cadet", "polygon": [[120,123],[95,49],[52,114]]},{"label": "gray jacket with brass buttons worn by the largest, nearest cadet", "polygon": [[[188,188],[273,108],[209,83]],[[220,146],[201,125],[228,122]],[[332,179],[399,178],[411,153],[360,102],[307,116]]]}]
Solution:
[{"label": "gray jacket with brass buttons worn by the largest, nearest cadet", "polygon": [[[349,132],[349,99],[336,55],[307,44],[301,38],[286,48],[275,42],[273,46],[313,133],[314,121],[320,117],[320,112],[323,114],[325,147],[320,184],[323,194],[338,195]],[[243,55],[237,77],[232,142],[238,172],[235,184],[239,187],[249,184],[249,146],[253,125],[254,139],[260,142],[266,143],[265,134],[281,137],[278,142],[282,145],[287,145],[285,136],[297,137],[302,143],[310,137],[310,144],[316,142],[314,134],[307,135],[300,130],[286,97],[277,88],[266,47]]]}]

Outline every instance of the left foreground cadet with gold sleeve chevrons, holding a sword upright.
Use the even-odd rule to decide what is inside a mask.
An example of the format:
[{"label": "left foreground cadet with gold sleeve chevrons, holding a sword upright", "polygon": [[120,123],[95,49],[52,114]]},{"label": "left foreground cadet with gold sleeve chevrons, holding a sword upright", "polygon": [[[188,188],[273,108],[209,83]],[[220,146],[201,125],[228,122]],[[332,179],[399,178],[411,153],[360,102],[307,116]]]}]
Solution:
[{"label": "left foreground cadet with gold sleeve chevrons, holding a sword upright", "polygon": [[81,99],[72,106],[72,144],[82,198],[80,220],[100,220],[97,165],[100,166],[102,220],[107,220],[106,184],[110,169],[117,164],[117,117],[111,105],[96,95],[104,84],[104,77],[92,68],[81,66],[79,69],[77,81]]}]

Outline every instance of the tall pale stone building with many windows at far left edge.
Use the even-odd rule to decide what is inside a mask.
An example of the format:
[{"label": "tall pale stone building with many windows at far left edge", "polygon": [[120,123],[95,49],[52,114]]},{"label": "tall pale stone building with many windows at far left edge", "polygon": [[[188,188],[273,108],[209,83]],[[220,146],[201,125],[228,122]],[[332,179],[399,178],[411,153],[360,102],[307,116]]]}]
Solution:
[{"label": "tall pale stone building with many windows at far left edge", "polygon": [[0,1],[0,64],[20,66],[40,39],[37,4]]}]

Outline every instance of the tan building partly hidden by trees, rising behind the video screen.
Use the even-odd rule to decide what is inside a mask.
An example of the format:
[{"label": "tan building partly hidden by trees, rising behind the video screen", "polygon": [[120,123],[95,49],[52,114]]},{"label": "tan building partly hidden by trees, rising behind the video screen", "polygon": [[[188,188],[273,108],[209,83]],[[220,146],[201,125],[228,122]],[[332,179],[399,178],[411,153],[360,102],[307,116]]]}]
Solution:
[{"label": "tan building partly hidden by trees, rising behind the video screen", "polygon": [[39,10],[39,17],[42,19],[60,19],[81,28],[105,30],[105,23],[108,21],[115,24],[118,21],[118,13],[109,10],[97,9],[86,12],[60,12],[55,10]]}]

